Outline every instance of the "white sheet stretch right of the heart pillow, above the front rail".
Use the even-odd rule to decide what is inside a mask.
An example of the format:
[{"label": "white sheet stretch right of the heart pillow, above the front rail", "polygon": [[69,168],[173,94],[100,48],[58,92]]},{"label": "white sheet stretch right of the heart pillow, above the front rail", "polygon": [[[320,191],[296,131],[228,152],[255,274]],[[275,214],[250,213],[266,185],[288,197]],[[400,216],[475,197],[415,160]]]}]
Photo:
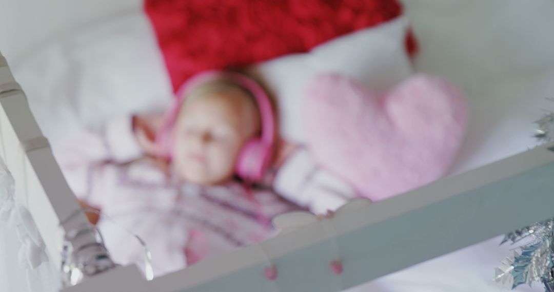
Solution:
[{"label": "white sheet stretch right of the heart pillow, above the front rail", "polygon": [[421,45],[417,71],[447,78],[469,100],[454,172],[533,147],[532,122],[554,109],[554,2],[404,2]]}]

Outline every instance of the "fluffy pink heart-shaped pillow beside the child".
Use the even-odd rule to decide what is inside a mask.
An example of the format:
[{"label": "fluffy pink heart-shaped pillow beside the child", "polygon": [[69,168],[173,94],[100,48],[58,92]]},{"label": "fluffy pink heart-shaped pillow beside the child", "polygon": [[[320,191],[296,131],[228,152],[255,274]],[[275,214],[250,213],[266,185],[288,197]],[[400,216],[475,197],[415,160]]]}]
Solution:
[{"label": "fluffy pink heart-shaped pillow beside the child", "polygon": [[382,200],[440,178],[464,137],[468,107],[452,85],[415,75],[377,95],[341,75],[317,76],[304,100],[316,162]]}]

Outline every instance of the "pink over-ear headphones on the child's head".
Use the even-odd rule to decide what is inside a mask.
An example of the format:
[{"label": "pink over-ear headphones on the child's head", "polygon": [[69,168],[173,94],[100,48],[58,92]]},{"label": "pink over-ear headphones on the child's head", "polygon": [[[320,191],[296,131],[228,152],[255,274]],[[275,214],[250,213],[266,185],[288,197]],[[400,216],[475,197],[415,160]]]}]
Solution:
[{"label": "pink over-ear headphones on the child's head", "polygon": [[194,87],[213,79],[224,79],[234,82],[248,90],[254,96],[261,116],[261,135],[250,140],[241,150],[235,165],[240,178],[247,181],[261,180],[271,163],[273,143],[275,140],[275,119],[269,97],[257,82],[237,72],[212,70],[197,74],[187,80],[177,91],[177,100],[168,112],[164,127],[156,137],[156,144],[167,159],[172,159],[174,138],[171,129],[177,120],[179,109],[187,93]]}]

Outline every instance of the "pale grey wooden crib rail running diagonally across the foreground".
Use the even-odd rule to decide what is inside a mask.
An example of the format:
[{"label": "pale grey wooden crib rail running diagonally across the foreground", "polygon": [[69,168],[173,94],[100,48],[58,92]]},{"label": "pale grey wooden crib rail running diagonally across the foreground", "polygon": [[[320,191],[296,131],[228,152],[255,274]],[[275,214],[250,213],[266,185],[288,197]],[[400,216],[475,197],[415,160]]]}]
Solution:
[{"label": "pale grey wooden crib rail running diagonally across the foreground", "polygon": [[[334,217],[335,234],[314,223],[262,243],[264,252],[252,246],[156,278],[152,290],[339,291],[544,220],[554,216],[552,145]],[[330,269],[335,244],[340,276]],[[273,282],[263,276],[269,263]]]}]

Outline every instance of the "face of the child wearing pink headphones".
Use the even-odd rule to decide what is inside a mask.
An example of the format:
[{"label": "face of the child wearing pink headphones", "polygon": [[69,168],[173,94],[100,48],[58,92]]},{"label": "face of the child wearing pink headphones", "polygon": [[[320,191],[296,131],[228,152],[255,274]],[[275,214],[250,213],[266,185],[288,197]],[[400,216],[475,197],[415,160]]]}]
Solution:
[{"label": "face of the child wearing pink headphones", "polygon": [[258,129],[257,108],[239,88],[185,100],[173,150],[179,178],[201,185],[232,178],[240,149]]}]

